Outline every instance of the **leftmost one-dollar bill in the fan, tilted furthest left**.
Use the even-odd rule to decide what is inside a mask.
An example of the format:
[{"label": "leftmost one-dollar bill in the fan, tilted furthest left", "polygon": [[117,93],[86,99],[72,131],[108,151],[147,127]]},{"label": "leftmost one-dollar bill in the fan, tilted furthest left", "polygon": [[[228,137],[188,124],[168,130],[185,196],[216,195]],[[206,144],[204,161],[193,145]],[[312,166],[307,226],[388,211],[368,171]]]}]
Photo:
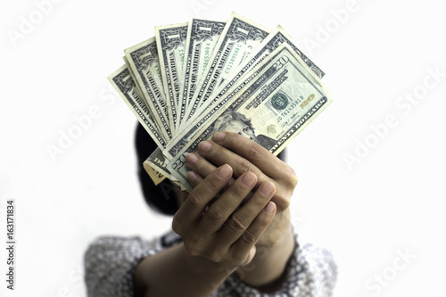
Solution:
[{"label": "leftmost one-dollar bill in the fan, tilted furthest left", "polygon": [[144,101],[137,94],[136,83],[131,77],[128,67],[126,65],[120,67],[108,79],[130,110],[135,114],[136,119],[139,120],[147,133],[152,137],[155,144],[158,147],[165,147],[166,141],[162,138],[160,130],[153,120],[153,116],[147,108],[147,105],[145,105]]}]

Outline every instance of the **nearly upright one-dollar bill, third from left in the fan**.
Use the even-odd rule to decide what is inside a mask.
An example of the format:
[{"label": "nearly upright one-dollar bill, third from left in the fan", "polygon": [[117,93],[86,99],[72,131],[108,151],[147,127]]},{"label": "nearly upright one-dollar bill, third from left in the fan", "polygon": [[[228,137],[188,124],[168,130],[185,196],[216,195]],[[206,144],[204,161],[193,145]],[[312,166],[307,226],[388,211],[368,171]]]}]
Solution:
[{"label": "nearly upright one-dollar bill, third from left in the fan", "polygon": [[178,117],[178,97],[183,71],[187,23],[155,27],[156,45],[160,56],[161,77],[167,100],[170,131],[175,131]]}]

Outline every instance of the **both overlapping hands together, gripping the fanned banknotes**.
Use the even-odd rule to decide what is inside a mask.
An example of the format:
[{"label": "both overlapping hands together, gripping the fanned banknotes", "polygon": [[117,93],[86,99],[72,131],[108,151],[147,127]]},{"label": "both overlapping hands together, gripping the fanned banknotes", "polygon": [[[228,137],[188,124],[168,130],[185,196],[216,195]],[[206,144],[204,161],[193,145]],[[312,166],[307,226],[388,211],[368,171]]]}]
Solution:
[{"label": "both overlapping hands together, gripping the fanned banknotes", "polygon": [[236,268],[252,261],[256,245],[273,247],[289,229],[297,177],[284,161],[244,136],[217,132],[212,140],[186,157],[194,190],[172,227],[187,253]]}]

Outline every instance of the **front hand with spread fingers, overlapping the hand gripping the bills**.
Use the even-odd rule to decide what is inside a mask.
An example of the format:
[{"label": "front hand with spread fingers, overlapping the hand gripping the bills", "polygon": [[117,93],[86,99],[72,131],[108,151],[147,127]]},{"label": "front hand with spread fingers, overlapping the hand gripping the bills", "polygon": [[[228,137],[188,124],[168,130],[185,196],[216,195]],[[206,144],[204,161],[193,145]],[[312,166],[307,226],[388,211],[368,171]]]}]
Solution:
[{"label": "front hand with spread fingers, overlapping the hand gripping the bills", "polygon": [[[235,269],[253,259],[255,243],[276,214],[276,204],[269,202],[275,194],[273,183],[253,190],[257,177],[247,171],[229,186],[232,175],[227,164],[204,179],[189,172],[195,187],[177,211],[172,227],[183,237],[188,254],[203,256],[220,268]],[[252,191],[249,201],[240,207]]]}]

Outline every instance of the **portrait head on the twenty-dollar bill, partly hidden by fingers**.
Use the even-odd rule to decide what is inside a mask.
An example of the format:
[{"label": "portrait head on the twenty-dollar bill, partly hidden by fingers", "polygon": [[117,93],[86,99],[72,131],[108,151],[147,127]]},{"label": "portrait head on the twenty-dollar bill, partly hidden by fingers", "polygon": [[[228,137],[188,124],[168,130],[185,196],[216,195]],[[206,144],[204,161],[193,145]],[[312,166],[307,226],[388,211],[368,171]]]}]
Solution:
[{"label": "portrait head on the twenty-dollar bill, partly hidden by fingers", "polygon": [[214,132],[218,131],[235,132],[258,142],[251,120],[246,118],[244,114],[236,111],[225,111],[219,119],[216,120]]}]

